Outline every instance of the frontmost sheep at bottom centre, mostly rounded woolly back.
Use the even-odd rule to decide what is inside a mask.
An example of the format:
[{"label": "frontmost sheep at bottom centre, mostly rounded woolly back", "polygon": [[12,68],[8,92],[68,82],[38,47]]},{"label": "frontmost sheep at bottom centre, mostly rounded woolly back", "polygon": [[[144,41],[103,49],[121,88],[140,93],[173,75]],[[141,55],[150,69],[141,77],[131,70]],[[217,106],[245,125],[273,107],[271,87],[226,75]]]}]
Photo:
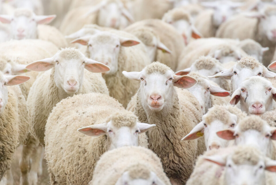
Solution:
[{"label": "frontmost sheep at bottom centre, mostly rounded woolly back", "polygon": [[89,185],[171,185],[160,158],[147,148],[127,146],[104,153]]}]

